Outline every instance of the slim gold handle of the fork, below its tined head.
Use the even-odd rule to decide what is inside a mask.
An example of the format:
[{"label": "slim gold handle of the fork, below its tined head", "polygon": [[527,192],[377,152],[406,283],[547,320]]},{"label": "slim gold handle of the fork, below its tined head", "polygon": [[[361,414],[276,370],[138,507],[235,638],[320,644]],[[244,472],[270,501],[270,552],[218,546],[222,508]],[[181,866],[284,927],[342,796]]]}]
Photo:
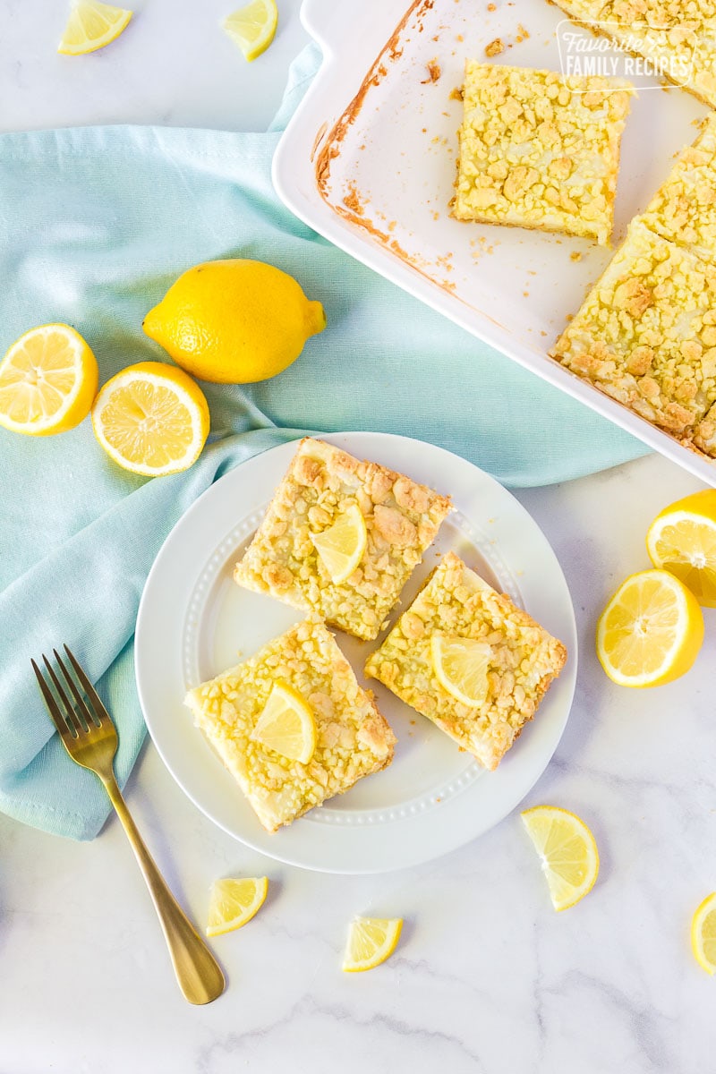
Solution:
[{"label": "slim gold handle of the fork, below its tined head", "polygon": [[166,886],[132,819],[114,774],[101,779],[147,882],[179,988],[190,1003],[210,1003],[221,996],[225,987],[219,963]]}]

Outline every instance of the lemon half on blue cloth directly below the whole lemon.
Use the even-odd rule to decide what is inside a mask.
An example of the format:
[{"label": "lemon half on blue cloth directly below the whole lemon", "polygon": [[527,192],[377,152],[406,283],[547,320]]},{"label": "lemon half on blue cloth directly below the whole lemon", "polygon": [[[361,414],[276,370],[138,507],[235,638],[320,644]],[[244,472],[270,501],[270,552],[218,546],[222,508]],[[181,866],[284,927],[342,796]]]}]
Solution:
[{"label": "lemon half on blue cloth directly below the whole lemon", "polygon": [[199,384],[182,369],[140,362],[118,373],[92,407],[94,435],[116,463],[159,477],[194,463],[209,431],[209,409]]}]

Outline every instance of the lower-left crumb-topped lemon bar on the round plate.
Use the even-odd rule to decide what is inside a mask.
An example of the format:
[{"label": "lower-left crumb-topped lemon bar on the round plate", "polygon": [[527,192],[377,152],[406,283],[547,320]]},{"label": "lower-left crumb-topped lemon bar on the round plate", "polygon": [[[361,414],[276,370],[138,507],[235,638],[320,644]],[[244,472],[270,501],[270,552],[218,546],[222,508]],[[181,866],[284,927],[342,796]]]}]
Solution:
[{"label": "lower-left crumb-topped lemon bar on the round plate", "polygon": [[[295,691],[312,715],[316,746],[305,764],[251,738],[277,682]],[[268,831],[393,758],[391,728],[320,622],[292,627],[244,664],[192,690],[186,703]]]}]

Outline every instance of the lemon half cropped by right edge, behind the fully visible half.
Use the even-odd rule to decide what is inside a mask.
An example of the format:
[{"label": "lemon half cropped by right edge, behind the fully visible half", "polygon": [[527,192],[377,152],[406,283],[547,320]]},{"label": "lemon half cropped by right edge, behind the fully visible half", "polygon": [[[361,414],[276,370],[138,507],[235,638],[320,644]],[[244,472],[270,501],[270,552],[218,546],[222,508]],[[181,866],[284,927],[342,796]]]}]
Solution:
[{"label": "lemon half cropped by right edge, behind the fully visible half", "polygon": [[646,535],[655,567],[675,575],[700,605],[716,608],[716,489],[671,504]]}]

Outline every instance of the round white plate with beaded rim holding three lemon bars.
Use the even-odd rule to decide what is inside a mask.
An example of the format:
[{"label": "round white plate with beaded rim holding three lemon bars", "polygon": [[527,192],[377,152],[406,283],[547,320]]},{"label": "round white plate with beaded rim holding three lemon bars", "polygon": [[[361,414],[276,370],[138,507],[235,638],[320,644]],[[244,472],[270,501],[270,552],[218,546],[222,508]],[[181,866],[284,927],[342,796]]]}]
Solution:
[{"label": "round white plate with beaded rim holding three lemon bars", "polygon": [[[404,590],[403,609],[452,549],[567,645],[565,669],[497,771],[481,769],[428,720],[371,680],[366,685],[398,740],[393,764],[271,834],[194,726],[184,706],[187,691],[246,659],[303,618],[232,579],[295,442],[231,470],[167,537],[140,606],[136,682],[149,734],[166,767],[221,828],[291,865],[383,872],[464,845],[501,821],[539,779],[565,728],[574,692],[574,613],[546,538],[522,505],[483,470],[442,448],[401,436],[341,433],[323,439],[452,496],[455,510]],[[392,621],[397,614],[395,610]],[[337,640],[363,682],[365,658],[378,642],[340,633]]]}]

